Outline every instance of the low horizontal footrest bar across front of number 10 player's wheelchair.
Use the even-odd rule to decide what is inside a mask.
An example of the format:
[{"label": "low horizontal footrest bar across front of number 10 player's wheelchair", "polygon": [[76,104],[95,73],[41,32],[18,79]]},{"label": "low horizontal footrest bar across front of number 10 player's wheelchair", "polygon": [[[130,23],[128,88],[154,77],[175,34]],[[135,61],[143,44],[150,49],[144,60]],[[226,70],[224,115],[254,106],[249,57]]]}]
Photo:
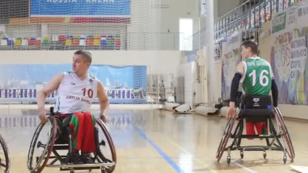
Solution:
[{"label": "low horizontal footrest bar across front of number 10 player's wheelchair", "polygon": [[[84,168],[84,169],[98,169],[105,166],[113,166],[114,162],[110,163],[94,163],[94,164],[48,164],[46,167],[60,167],[62,169],[70,168]],[[81,169],[80,169],[81,170]]]}]

